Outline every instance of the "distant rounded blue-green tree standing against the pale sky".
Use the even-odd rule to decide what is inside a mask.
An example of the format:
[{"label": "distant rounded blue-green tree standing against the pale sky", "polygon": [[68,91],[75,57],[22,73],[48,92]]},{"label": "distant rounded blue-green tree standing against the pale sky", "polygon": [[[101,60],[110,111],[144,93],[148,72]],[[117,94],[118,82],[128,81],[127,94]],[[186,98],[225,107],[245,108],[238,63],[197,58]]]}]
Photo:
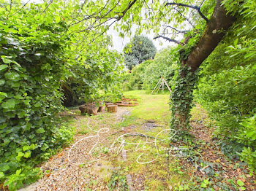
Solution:
[{"label": "distant rounded blue-green tree standing against the pale sky", "polygon": [[146,36],[134,36],[132,42],[124,47],[125,64],[128,69],[143,61],[153,59],[157,53],[157,48]]}]

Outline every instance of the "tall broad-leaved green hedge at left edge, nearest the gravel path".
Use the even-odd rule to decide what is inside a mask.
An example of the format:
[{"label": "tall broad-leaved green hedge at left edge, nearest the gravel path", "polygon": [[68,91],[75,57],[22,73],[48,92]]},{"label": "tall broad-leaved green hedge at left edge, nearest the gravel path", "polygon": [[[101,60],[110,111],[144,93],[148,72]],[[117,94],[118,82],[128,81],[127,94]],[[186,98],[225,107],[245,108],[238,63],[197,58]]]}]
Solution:
[{"label": "tall broad-leaved green hedge at left edge, nearest the gravel path", "polygon": [[48,158],[51,149],[72,133],[67,128],[67,135],[59,135],[61,126],[54,120],[61,109],[60,82],[67,71],[63,57],[70,39],[64,35],[67,24],[50,21],[50,15],[35,17],[38,8],[31,5],[8,20],[4,9],[0,14],[0,171],[10,190],[29,183],[29,176],[37,175],[31,170],[34,162]]}]

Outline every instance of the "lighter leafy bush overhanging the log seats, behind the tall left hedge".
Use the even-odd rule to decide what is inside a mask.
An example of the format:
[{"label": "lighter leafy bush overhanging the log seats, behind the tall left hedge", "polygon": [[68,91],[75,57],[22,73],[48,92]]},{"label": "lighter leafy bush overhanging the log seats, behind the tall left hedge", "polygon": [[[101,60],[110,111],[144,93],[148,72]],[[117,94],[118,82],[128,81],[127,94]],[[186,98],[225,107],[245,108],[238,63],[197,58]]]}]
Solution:
[{"label": "lighter leafy bush overhanging the log seats, behind the tall left hedge", "polygon": [[[108,46],[106,38],[104,47]],[[102,44],[103,45],[103,44]],[[113,50],[91,47],[83,55],[83,62],[75,61],[69,67],[70,76],[62,83],[64,105],[74,106],[85,102],[98,101],[105,93],[119,95],[118,80],[123,65],[121,55]]]}]

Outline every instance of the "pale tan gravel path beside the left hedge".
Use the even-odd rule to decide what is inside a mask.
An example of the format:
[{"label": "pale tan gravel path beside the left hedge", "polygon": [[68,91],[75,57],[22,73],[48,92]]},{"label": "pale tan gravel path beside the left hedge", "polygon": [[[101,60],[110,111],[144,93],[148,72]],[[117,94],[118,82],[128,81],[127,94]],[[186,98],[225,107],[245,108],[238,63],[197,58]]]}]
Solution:
[{"label": "pale tan gravel path beside the left hedge", "polygon": [[[115,169],[108,157],[113,156],[99,150],[89,155],[89,151],[96,143],[97,146],[101,147],[110,146],[111,141],[108,138],[111,136],[118,137],[118,134],[121,134],[121,129],[119,132],[109,128],[109,131],[100,136],[99,139],[96,137],[95,131],[123,121],[124,116],[130,113],[129,110],[129,108],[118,107],[118,112],[110,114],[107,121],[104,121],[105,115],[102,114],[102,122],[94,121],[94,117],[76,115],[74,124],[76,128],[86,128],[90,132],[86,135],[76,135],[72,145],[51,157],[48,162],[42,163],[41,169],[44,172],[42,179],[29,185],[29,187],[20,189],[20,191],[108,190],[107,182],[111,172]],[[89,121],[90,127],[87,126],[86,121]]]}]

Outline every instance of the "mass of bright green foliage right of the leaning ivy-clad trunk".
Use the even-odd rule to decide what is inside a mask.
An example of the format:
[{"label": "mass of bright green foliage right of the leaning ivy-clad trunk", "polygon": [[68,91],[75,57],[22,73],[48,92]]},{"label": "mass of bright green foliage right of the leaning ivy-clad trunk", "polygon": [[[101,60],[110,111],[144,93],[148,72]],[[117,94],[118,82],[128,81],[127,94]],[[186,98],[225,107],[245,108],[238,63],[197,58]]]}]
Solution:
[{"label": "mass of bright green foliage right of the leaning ivy-clad trunk", "polygon": [[242,158],[255,169],[252,165],[256,162],[252,115],[256,108],[256,23],[252,10],[256,7],[251,1],[242,4],[225,1],[225,5],[240,16],[227,37],[203,63],[195,96],[216,121],[217,135],[226,141],[244,144]]}]

